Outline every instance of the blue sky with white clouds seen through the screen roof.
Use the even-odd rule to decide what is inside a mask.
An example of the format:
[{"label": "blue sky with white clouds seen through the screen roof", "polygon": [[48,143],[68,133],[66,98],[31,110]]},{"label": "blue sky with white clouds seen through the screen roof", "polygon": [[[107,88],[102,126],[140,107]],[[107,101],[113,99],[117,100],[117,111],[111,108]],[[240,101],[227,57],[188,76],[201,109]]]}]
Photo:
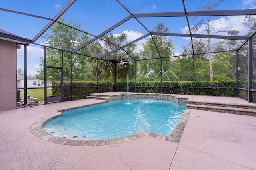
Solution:
[{"label": "blue sky with white clouds seen through the screen roof", "polygon": [[[0,7],[18,12],[54,18],[54,16],[66,5],[66,0],[1,0]],[[182,0],[121,0],[120,1],[132,13],[155,13],[155,12],[183,12]],[[187,11],[197,11],[200,4],[206,5],[208,0],[185,0]],[[211,1],[215,3],[217,1]],[[216,10],[237,10],[256,9],[256,0],[224,0]],[[77,0],[65,13],[65,23],[71,20],[80,25],[80,29],[97,36],[117,22],[126,18],[129,13],[115,0]],[[163,22],[171,33],[187,33],[188,26],[186,18],[138,18],[150,31]],[[200,18],[199,18],[200,19]],[[189,18],[193,26],[194,18]],[[0,11],[0,28],[18,36],[33,39],[49,20],[14,14]],[[248,32],[248,28],[242,24],[244,16],[223,17],[220,22],[213,18],[215,28],[227,26],[232,30],[239,29],[240,36]],[[128,20],[121,26],[111,31],[112,34],[128,34],[130,41],[135,40],[144,34],[144,29],[134,18]],[[46,32],[50,34],[50,31]],[[182,45],[186,39],[182,37],[171,37],[174,44],[174,52],[179,55],[182,52]],[[137,51],[142,48],[148,38],[144,38],[136,43]],[[35,43],[44,44],[46,40],[39,38]],[[39,59],[43,57],[41,46],[30,44],[28,51],[28,75],[35,75],[36,68],[40,64]],[[23,48],[17,50],[17,68],[23,69]]]}]

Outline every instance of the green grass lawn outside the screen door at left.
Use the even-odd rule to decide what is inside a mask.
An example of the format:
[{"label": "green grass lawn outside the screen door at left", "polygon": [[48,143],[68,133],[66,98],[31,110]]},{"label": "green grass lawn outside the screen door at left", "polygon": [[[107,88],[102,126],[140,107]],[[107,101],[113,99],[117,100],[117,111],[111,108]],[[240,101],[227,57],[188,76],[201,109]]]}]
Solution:
[{"label": "green grass lawn outside the screen door at left", "polygon": [[[24,89],[20,89],[20,98],[24,97]],[[44,89],[28,89],[27,95],[37,98],[38,101],[44,101]],[[52,89],[47,89],[47,96],[52,95]]]}]

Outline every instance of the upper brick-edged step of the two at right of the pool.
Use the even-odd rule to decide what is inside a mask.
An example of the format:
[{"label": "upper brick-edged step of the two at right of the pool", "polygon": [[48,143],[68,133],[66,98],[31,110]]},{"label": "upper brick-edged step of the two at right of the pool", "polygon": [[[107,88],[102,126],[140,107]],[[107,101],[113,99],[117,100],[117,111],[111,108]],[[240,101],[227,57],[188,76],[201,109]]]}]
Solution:
[{"label": "upper brick-edged step of the two at right of the pool", "polygon": [[218,107],[232,107],[232,108],[243,108],[243,109],[253,109],[256,110],[256,105],[247,104],[230,104],[230,103],[218,103],[218,102],[208,102],[208,101],[187,101],[189,105],[205,105],[205,106],[218,106]]}]

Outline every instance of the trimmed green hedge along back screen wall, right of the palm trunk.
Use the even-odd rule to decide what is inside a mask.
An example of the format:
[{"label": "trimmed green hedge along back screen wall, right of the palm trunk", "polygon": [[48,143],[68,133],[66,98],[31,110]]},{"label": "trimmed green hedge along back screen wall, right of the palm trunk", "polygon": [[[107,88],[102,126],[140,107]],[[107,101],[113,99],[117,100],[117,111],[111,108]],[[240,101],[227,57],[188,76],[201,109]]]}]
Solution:
[{"label": "trimmed green hedge along back screen wall, right of the palm trunk", "polygon": [[[127,91],[127,83],[118,82],[116,91]],[[135,82],[129,82],[129,91],[135,91]],[[181,87],[182,88],[181,88]],[[204,87],[204,88],[200,88]],[[218,88],[218,87],[226,87]],[[231,88],[231,89],[228,89]],[[234,88],[234,89],[233,89]],[[236,81],[195,81],[195,95],[236,96]],[[162,93],[193,95],[193,81],[162,81]],[[136,92],[161,93],[160,82],[137,83]]]}]

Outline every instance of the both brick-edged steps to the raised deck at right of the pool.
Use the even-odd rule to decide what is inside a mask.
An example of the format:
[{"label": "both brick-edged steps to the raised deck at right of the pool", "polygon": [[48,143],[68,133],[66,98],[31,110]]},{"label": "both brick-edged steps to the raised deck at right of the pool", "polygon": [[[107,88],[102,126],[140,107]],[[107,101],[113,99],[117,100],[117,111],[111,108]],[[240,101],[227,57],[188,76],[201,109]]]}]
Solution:
[{"label": "both brick-edged steps to the raised deck at right of the pool", "polygon": [[187,101],[188,109],[256,116],[256,105]]}]

